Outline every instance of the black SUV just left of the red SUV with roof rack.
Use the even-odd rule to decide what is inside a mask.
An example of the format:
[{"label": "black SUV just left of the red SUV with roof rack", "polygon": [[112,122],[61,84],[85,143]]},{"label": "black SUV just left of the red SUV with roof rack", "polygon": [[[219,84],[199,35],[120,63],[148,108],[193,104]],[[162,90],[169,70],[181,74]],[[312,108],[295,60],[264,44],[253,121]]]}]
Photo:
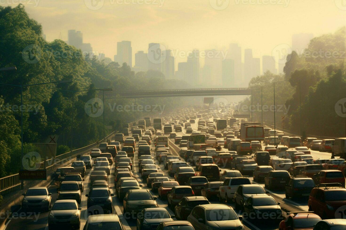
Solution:
[{"label": "black SUV just left of the red SUV with roof rack", "polygon": [[285,186],[285,197],[287,199],[308,198],[315,186],[315,182],[309,177],[294,177]]}]

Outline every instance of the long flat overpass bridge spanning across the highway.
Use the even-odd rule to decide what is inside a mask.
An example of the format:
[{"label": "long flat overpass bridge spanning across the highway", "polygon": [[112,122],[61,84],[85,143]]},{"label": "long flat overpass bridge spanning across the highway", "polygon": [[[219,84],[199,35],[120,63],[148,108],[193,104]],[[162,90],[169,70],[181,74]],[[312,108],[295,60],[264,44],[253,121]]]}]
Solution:
[{"label": "long flat overpass bridge spanning across the highway", "polygon": [[191,97],[191,96],[238,96],[251,95],[249,88],[161,89],[119,92],[122,98]]}]

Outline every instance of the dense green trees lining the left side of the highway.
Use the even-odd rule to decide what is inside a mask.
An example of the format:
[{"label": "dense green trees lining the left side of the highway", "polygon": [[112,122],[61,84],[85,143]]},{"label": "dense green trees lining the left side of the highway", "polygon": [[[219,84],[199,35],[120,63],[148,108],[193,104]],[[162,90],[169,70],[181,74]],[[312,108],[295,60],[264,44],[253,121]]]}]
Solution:
[{"label": "dense green trees lining the left side of the highway", "polygon": [[[29,46],[29,47],[28,47]],[[103,116],[90,117],[85,112],[86,102],[103,98],[102,91],[73,93],[69,91],[112,88],[104,92],[106,136],[134,121],[147,112],[118,111],[116,106],[134,103],[133,99],[117,98],[119,91],[175,88],[181,82],[166,84],[160,72],[134,73],[126,63],[100,62],[96,56],[83,57],[81,50],[64,41],[47,42],[42,27],[28,17],[24,6],[0,7],[0,68],[16,66],[17,71],[1,71],[0,83],[26,85],[72,79],[73,83],[23,87],[24,154],[34,151],[27,143],[46,143],[49,136],[57,136],[57,154],[70,151],[72,98],[73,148],[80,148],[103,139]],[[31,53],[29,52],[31,51]],[[67,91],[55,90],[62,89]],[[0,86],[0,177],[17,173],[21,167],[20,152],[20,87]],[[170,108],[178,99],[141,99],[136,104]],[[9,106],[7,106],[9,105]],[[30,111],[30,108],[31,110]],[[34,109],[36,108],[36,109]],[[160,111],[159,111],[160,112]],[[156,116],[157,113],[151,113]]]}]

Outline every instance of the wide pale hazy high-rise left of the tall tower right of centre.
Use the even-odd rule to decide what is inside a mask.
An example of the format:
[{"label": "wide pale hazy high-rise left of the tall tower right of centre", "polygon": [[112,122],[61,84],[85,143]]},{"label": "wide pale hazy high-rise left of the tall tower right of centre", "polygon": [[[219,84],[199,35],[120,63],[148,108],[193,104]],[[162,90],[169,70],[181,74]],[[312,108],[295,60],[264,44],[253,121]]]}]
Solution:
[{"label": "wide pale hazy high-rise left of the tall tower right of centre", "polygon": [[222,83],[222,56],[220,51],[215,49],[206,50],[206,58],[204,64],[212,67],[212,78],[211,84],[220,85]]}]

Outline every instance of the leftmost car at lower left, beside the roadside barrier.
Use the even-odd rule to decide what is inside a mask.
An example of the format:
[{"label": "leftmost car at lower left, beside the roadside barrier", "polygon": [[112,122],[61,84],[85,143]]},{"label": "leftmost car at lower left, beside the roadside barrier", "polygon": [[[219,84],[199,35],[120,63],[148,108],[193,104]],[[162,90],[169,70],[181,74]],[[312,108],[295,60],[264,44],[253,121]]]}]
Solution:
[{"label": "leftmost car at lower left, beside the roadside barrier", "polygon": [[48,192],[47,187],[31,187],[26,193],[22,194],[23,210],[44,210],[49,211],[51,208],[52,193]]}]

